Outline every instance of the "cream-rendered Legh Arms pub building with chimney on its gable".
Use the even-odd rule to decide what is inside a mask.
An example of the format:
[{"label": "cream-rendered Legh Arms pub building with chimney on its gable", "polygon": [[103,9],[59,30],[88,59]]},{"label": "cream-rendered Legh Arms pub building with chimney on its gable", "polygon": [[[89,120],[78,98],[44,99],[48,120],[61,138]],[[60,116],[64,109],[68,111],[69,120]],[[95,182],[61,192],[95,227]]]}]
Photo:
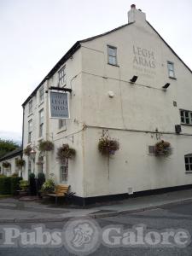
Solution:
[{"label": "cream-rendered Legh Arms pub building with chimney on its gable", "polygon": [[[135,5],[128,20],[74,44],[23,103],[23,147],[55,145],[43,159],[38,148],[24,156],[24,177],[54,173],[80,203],[192,184],[192,72]],[[72,89],[70,119],[49,119],[51,86]],[[119,141],[109,160],[98,151],[103,134]],[[160,140],[171,143],[169,158],[154,155]],[[76,149],[68,166],[56,159],[64,143]]]}]

